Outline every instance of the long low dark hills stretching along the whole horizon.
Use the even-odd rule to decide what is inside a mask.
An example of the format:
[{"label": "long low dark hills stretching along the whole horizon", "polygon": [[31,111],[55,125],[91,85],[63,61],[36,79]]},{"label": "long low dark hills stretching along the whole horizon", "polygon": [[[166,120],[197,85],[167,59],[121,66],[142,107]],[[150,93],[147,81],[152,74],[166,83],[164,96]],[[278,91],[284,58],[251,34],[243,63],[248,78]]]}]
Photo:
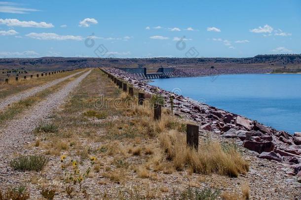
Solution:
[{"label": "long low dark hills stretching along the whole horizon", "polygon": [[20,69],[46,71],[75,69],[86,67],[147,67],[154,70],[158,67],[264,67],[298,68],[301,66],[301,54],[257,55],[250,58],[0,58],[0,69]]}]

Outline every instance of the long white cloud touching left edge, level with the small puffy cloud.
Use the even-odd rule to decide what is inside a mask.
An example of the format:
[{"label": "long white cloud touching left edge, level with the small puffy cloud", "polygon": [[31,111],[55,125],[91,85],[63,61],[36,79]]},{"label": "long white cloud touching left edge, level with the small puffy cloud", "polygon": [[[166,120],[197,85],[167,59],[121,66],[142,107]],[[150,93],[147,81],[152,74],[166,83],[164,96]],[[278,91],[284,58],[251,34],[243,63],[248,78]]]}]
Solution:
[{"label": "long white cloud touching left edge, level with the small puffy cloud", "polygon": [[35,28],[52,28],[54,27],[51,23],[46,22],[35,22],[35,21],[19,21],[18,19],[0,19],[0,24],[12,27],[35,27]]}]

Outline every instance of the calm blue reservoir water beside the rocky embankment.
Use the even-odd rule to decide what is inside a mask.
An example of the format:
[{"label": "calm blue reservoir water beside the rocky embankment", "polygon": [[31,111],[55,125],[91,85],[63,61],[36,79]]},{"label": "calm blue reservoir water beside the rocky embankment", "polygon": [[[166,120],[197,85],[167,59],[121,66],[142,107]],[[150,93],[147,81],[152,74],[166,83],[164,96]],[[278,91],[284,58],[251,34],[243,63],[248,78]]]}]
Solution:
[{"label": "calm blue reservoir water beside the rocky embankment", "polygon": [[183,96],[277,130],[301,131],[301,75],[220,75],[153,81],[151,85],[175,92],[180,89]]}]

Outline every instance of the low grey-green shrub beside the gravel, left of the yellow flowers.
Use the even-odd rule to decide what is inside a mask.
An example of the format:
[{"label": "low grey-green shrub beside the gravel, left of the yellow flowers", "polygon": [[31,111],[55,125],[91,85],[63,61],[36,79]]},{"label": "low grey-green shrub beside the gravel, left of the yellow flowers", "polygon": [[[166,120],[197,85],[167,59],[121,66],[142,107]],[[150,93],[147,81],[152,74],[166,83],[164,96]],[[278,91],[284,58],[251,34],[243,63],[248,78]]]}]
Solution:
[{"label": "low grey-green shrub beside the gravel, left of the yellow flowers", "polygon": [[49,158],[44,155],[21,155],[10,161],[10,166],[16,170],[40,171],[48,163]]}]

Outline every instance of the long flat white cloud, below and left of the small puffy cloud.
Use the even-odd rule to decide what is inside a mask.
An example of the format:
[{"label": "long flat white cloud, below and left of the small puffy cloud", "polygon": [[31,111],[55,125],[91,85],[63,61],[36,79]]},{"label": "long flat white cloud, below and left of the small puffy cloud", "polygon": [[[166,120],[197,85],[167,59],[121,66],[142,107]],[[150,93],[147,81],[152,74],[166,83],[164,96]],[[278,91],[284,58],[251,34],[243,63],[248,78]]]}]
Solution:
[{"label": "long flat white cloud, below and left of the small puffy cloud", "polygon": [[37,40],[83,40],[81,36],[60,36],[55,33],[30,33],[26,36]]}]

